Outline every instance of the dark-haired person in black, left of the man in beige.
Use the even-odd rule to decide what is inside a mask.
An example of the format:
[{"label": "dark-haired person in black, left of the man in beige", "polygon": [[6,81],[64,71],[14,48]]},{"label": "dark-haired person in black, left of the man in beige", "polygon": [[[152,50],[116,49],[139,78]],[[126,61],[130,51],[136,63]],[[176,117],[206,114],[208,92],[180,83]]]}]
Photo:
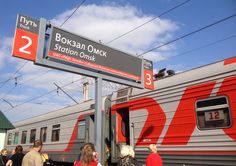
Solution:
[{"label": "dark-haired person in black, left of the man in beige", "polygon": [[23,147],[21,145],[17,145],[14,150],[14,154],[9,158],[6,166],[21,166],[23,157]]}]

